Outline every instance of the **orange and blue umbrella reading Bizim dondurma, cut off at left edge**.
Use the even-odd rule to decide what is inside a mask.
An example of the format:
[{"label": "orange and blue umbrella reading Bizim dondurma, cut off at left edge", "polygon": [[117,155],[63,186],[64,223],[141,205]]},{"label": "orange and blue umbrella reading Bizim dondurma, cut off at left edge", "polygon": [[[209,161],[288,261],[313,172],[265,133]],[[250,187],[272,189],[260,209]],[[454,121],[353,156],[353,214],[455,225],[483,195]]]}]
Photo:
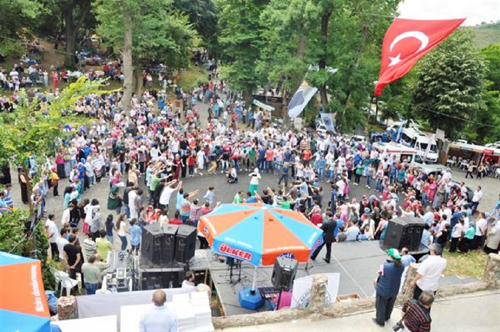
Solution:
[{"label": "orange and blue umbrella reading Bizim dondurma, cut off at left edge", "polygon": [[49,332],[40,261],[0,251],[2,331]]}]

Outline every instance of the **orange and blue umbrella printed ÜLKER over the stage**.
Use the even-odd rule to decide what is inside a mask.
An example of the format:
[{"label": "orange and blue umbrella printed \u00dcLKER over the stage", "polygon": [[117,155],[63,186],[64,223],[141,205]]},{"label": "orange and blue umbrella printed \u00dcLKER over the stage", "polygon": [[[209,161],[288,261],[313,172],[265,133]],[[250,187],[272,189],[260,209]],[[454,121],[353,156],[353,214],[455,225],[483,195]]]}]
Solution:
[{"label": "orange and blue umbrella printed \u00dcLKER over the stage", "polygon": [[198,230],[213,252],[255,266],[272,265],[278,256],[307,262],[323,241],[302,213],[263,203],[221,204],[200,218]]}]

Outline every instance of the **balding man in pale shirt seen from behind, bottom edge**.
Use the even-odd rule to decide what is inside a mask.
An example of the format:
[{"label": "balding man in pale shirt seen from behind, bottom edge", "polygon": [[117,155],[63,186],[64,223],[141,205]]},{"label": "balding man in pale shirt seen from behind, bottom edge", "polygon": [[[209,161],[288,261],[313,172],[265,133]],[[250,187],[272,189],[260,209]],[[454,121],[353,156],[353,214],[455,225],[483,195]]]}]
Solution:
[{"label": "balding man in pale shirt seen from behind, bottom edge", "polygon": [[177,332],[177,317],[175,313],[168,310],[164,304],[166,294],[158,289],[153,292],[152,302],[154,306],[140,315],[140,332]]}]

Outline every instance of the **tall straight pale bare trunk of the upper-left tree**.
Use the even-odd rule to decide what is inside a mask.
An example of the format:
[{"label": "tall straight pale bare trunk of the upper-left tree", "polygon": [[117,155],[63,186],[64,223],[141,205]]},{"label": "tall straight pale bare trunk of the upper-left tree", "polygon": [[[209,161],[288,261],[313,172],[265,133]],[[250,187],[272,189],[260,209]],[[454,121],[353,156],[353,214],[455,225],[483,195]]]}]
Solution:
[{"label": "tall straight pale bare trunk of the upper-left tree", "polygon": [[123,110],[126,114],[132,108],[133,67],[132,67],[132,21],[128,8],[123,9]]}]

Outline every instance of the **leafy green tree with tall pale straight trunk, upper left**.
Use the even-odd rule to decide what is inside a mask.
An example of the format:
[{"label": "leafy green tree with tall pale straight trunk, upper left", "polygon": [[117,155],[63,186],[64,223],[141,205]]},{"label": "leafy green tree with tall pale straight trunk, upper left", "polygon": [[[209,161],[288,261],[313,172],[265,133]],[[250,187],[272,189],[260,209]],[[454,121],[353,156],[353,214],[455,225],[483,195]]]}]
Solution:
[{"label": "leafy green tree with tall pale straight trunk, upper left", "polygon": [[162,62],[176,68],[189,61],[196,32],[171,0],[107,0],[97,3],[95,10],[97,29],[106,43],[122,49],[125,111],[130,110],[134,78],[140,92],[145,64]]}]

